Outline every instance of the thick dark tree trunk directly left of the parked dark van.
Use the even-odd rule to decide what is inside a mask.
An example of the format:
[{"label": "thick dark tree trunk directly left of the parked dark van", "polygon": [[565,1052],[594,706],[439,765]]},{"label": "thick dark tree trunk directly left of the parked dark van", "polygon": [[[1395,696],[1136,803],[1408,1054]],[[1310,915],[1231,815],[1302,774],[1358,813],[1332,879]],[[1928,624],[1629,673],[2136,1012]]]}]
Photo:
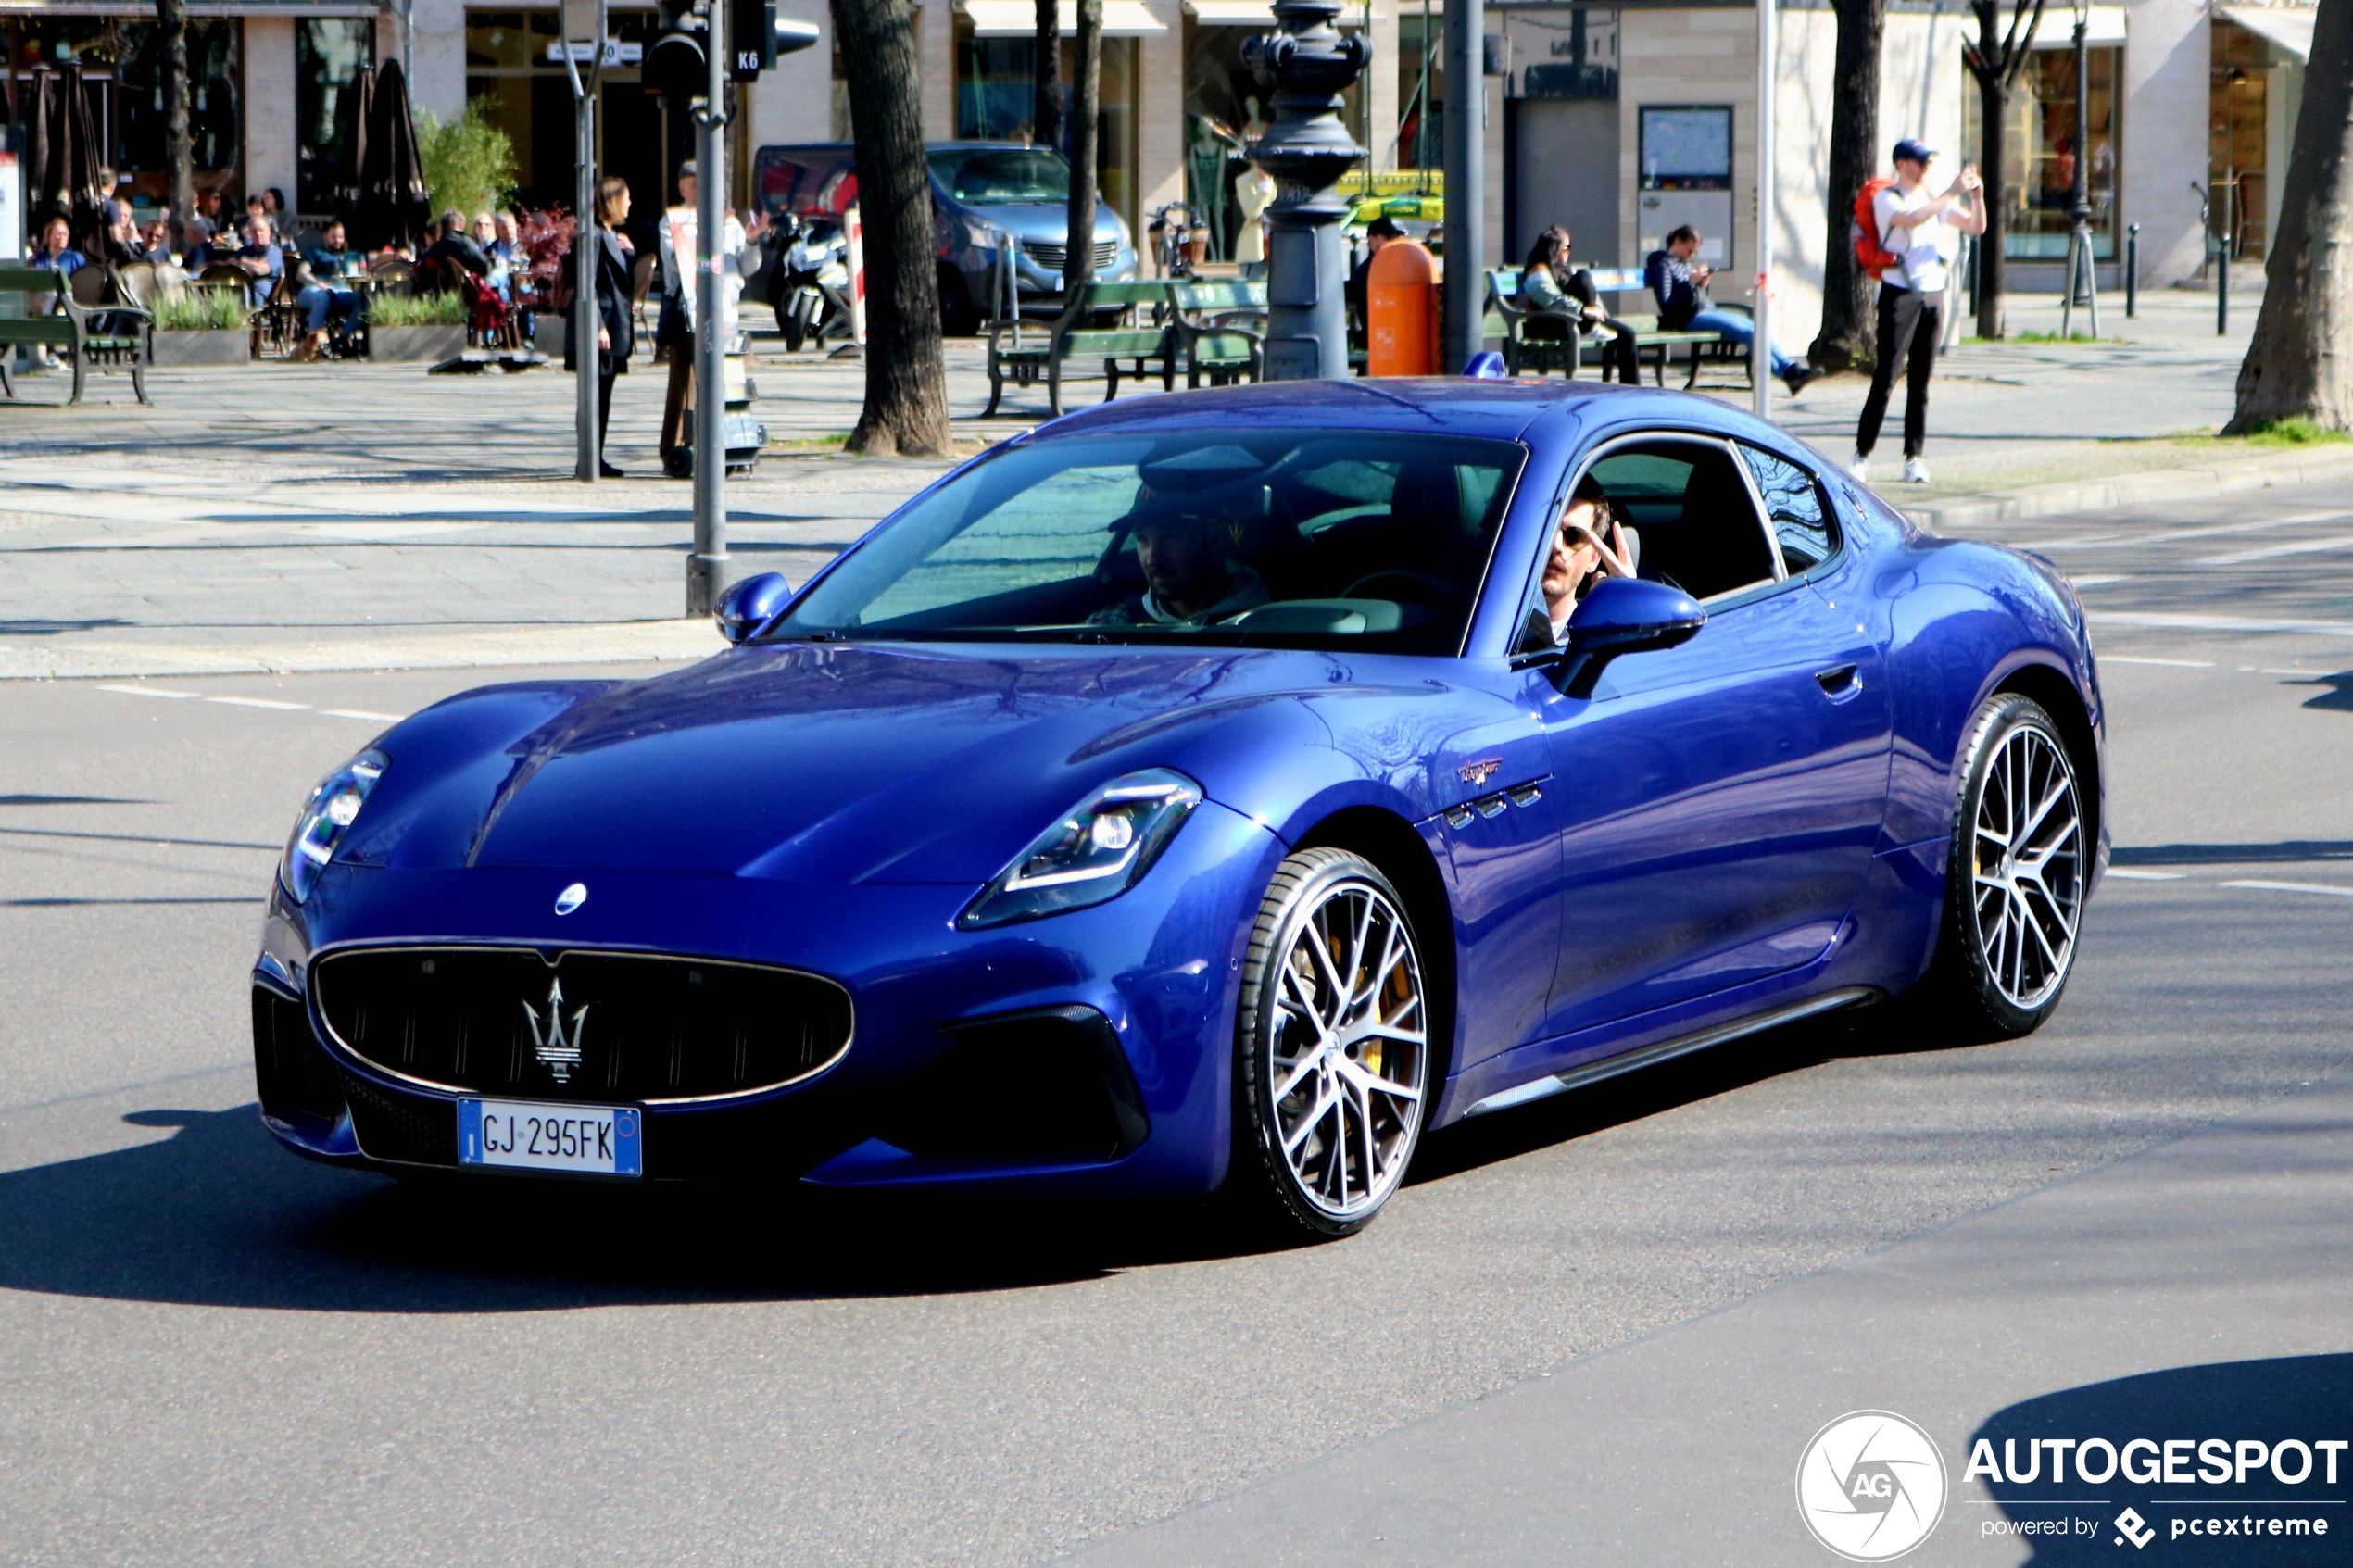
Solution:
[{"label": "thick dark tree trunk directly left of the parked dark van", "polygon": [[948,449],[948,369],[939,353],[932,183],[915,94],[908,0],[833,0],[849,87],[849,136],[866,228],[866,407],[849,451]]}]

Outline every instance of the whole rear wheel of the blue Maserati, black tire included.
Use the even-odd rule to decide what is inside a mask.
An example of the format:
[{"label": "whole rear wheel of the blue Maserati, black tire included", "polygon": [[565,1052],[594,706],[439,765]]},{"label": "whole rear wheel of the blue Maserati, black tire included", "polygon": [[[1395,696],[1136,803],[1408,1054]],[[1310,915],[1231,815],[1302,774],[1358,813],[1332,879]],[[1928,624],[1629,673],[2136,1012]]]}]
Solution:
[{"label": "whole rear wheel of the blue Maserati, black tire included", "polygon": [[1922,990],[1967,1039],[2017,1039],[2059,1009],[2075,969],[2092,853],[2082,785],[2059,724],[2014,691],[1977,710],[1958,773],[1944,929]]}]

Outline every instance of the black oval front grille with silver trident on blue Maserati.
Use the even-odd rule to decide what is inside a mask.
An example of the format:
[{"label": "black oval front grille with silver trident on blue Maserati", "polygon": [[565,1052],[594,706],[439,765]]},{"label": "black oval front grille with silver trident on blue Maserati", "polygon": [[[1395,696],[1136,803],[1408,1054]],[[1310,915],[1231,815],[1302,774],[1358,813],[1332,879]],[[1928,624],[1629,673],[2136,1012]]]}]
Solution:
[{"label": "black oval front grille with silver trident on blue Maserati", "polygon": [[708,1100],[849,1048],[849,992],[791,969],[635,952],[355,947],[311,987],[336,1044],[395,1077],[532,1100]]}]

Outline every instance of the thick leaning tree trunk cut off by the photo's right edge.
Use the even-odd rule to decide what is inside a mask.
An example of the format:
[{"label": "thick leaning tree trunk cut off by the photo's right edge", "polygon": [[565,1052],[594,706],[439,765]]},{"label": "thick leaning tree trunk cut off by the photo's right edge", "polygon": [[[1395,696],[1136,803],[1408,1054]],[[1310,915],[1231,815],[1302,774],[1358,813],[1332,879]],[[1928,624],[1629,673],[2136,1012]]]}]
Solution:
[{"label": "thick leaning tree trunk cut off by the photo's right edge", "polygon": [[2264,310],[2224,435],[2308,418],[2353,430],[2353,0],[2320,0],[2304,108],[2264,263]]}]

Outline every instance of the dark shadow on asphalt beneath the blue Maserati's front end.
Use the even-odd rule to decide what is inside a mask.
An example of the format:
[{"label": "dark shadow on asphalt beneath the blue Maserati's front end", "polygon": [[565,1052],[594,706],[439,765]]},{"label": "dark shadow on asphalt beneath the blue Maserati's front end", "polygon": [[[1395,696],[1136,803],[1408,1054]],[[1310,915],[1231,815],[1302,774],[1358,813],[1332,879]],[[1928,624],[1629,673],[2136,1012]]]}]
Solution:
[{"label": "dark shadow on asphalt beneath the blue Maserati's front end", "polygon": [[0,1173],[0,1288],[304,1312],[1000,1291],[1252,1251],[1200,1201],[421,1185],[289,1157],[252,1105]]}]

